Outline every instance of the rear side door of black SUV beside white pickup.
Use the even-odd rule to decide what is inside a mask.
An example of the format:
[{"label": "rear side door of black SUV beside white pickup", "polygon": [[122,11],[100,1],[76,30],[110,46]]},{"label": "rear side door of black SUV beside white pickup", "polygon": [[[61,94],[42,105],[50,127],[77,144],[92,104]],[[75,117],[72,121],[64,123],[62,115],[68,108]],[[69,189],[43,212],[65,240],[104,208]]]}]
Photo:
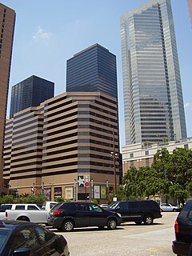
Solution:
[{"label": "rear side door of black SUV beside white pickup", "polygon": [[75,226],[90,226],[89,205],[84,202],[76,204]]}]

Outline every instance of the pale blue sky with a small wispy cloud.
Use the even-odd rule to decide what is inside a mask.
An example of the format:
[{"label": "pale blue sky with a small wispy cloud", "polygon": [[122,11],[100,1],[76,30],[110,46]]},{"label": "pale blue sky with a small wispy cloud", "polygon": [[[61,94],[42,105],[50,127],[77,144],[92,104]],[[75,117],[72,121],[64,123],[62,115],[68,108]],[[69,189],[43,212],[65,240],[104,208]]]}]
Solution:
[{"label": "pale blue sky with a small wispy cloud", "polygon": [[[125,145],[120,17],[147,0],[2,0],[16,12],[11,86],[37,75],[54,82],[55,96],[66,91],[66,60],[98,43],[117,57],[120,145]],[[178,60],[192,137],[192,26],[187,0],[172,0]]]}]

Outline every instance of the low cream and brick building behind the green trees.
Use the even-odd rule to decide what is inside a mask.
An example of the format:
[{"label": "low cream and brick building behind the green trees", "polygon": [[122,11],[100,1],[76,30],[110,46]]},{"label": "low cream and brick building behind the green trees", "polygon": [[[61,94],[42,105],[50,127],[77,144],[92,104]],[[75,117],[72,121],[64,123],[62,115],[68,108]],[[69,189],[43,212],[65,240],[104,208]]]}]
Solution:
[{"label": "low cream and brick building behind the green trees", "polygon": [[166,148],[172,153],[173,150],[178,147],[192,150],[192,138],[152,145],[147,145],[142,142],[129,146],[122,146],[122,173],[124,175],[131,166],[135,166],[136,168],[151,166],[154,161],[154,154],[156,154],[158,150]]}]

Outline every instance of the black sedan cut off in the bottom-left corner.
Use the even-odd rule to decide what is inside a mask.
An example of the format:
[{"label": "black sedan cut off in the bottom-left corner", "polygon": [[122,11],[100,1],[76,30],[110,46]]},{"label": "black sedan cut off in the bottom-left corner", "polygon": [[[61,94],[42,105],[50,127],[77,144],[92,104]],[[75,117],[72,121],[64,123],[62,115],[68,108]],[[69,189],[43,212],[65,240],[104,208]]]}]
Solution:
[{"label": "black sedan cut off in the bottom-left corner", "polygon": [[1,256],[69,256],[66,239],[31,222],[0,221]]}]

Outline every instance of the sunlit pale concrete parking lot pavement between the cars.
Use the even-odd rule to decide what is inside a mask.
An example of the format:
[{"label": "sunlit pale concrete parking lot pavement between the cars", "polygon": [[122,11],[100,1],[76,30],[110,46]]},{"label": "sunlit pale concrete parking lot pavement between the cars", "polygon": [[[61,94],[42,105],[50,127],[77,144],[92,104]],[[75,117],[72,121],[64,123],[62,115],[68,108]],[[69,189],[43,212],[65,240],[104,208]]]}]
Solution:
[{"label": "sunlit pale concrete parking lot pavement between the cars", "polygon": [[137,226],[134,222],[122,223],[117,230],[78,228],[70,233],[62,233],[68,241],[70,256],[154,256],[175,255],[171,244],[174,239],[174,221],[178,213],[162,213],[154,225]]}]

